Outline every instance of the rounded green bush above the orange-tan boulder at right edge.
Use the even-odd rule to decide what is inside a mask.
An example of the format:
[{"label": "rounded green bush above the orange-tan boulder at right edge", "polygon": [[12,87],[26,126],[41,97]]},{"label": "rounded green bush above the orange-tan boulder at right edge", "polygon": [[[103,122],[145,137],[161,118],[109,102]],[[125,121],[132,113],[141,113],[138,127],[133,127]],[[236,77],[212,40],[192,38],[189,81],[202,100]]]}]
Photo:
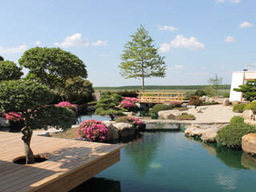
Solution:
[{"label": "rounded green bush above the orange-tan boulder at right edge", "polygon": [[242,136],[245,134],[256,133],[256,127],[246,123],[231,123],[218,130],[216,141],[223,146],[241,148]]}]

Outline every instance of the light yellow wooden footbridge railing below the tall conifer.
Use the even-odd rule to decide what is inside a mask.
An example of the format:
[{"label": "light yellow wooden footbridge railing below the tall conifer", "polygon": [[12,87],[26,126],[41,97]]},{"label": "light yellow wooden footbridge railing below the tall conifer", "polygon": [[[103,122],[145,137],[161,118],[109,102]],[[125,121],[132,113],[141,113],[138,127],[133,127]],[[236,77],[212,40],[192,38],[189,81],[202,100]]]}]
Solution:
[{"label": "light yellow wooden footbridge railing below the tall conifer", "polygon": [[139,92],[138,102],[142,102],[142,103],[183,102],[184,94],[185,93]]}]

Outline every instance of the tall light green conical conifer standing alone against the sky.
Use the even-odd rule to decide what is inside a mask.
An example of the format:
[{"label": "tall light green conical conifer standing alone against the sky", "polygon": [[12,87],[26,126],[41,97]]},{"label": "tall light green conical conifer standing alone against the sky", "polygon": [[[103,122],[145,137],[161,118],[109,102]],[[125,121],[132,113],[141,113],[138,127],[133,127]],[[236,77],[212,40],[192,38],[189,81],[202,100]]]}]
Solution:
[{"label": "tall light green conical conifer standing alone against the sky", "polygon": [[124,78],[142,78],[142,90],[144,90],[144,78],[166,76],[166,64],[164,57],[158,54],[158,49],[153,45],[153,39],[141,25],[135,34],[130,35],[131,41],[125,45],[121,55],[121,75]]}]

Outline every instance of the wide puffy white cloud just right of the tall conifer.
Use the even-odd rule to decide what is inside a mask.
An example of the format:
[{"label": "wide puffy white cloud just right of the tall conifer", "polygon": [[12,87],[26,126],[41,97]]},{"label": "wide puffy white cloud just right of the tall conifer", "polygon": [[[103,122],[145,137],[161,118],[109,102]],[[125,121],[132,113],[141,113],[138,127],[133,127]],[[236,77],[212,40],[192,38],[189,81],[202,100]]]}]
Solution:
[{"label": "wide puffy white cloud just right of the tall conifer", "polygon": [[164,42],[160,45],[161,52],[168,52],[171,48],[184,48],[189,50],[204,50],[206,46],[202,42],[198,42],[197,38],[186,38],[182,34],[178,34],[170,43]]}]

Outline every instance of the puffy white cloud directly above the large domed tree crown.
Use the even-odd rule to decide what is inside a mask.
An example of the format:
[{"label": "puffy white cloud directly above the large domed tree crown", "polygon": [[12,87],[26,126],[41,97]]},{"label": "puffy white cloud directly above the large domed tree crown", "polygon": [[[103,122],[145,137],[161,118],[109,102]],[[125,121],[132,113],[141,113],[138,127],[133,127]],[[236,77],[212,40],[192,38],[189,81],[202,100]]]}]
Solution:
[{"label": "puffy white cloud directly above the large domed tree crown", "polygon": [[82,34],[72,34],[63,39],[62,42],[55,42],[55,46],[62,48],[70,46],[89,46],[89,41],[86,38],[82,38]]}]

